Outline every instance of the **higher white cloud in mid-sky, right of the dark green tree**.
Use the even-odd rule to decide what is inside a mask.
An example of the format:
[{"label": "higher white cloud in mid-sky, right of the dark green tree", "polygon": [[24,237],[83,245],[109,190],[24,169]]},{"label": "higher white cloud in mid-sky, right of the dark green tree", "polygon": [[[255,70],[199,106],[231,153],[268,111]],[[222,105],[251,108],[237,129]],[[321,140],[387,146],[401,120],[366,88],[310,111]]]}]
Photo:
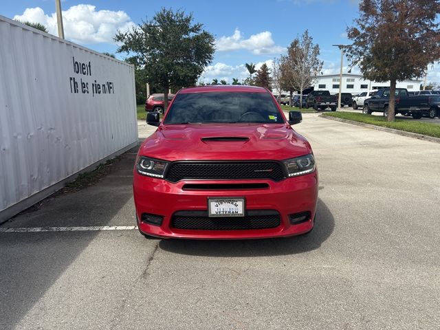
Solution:
[{"label": "higher white cloud in mid-sky, right of the dark green tree", "polygon": [[232,36],[221,36],[216,41],[216,49],[219,52],[231,50],[250,50],[253,54],[281,54],[285,47],[275,45],[272,33],[269,31],[252,34],[249,39],[244,39],[239,29],[235,29]]}]

